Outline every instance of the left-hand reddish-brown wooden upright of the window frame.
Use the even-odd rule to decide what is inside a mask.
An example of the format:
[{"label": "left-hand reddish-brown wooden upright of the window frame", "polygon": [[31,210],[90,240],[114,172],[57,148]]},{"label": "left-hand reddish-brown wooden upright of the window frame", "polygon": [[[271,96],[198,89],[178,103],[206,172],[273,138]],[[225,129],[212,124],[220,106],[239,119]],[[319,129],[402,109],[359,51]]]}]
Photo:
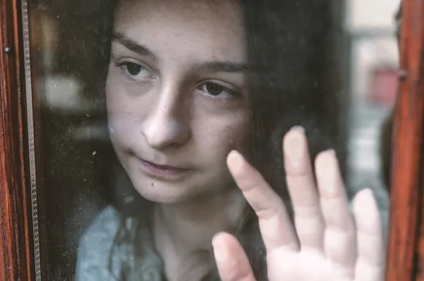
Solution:
[{"label": "left-hand reddish-brown wooden upright of the window frame", "polygon": [[20,3],[0,0],[0,280],[31,280]]}]

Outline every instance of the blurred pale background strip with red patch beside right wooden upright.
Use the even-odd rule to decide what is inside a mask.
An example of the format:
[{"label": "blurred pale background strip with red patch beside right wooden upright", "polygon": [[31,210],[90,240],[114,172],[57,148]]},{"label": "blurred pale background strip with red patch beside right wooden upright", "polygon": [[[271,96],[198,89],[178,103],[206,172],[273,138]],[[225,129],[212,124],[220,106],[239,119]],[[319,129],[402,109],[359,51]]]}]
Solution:
[{"label": "blurred pale background strip with red patch beside right wooden upright", "polygon": [[382,135],[382,125],[391,115],[398,89],[399,6],[400,0],[347,0],[344,22],[349,102],[346,184],[353,192],[373,189],[385,217],[389,201],[382,144],[389,140]]}]

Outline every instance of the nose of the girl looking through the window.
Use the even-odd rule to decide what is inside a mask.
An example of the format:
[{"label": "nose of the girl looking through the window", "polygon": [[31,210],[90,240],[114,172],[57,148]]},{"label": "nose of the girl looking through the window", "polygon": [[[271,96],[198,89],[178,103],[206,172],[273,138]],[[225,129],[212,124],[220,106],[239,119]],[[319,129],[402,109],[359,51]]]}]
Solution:
[{"label": "nose of the girl looking through the window", "polygon": [[156,108],[143,121],[141,133],[148,145],[157,150],[179,146],[189,139],[187,108],[184,98],[171,85],[155,97]]}]

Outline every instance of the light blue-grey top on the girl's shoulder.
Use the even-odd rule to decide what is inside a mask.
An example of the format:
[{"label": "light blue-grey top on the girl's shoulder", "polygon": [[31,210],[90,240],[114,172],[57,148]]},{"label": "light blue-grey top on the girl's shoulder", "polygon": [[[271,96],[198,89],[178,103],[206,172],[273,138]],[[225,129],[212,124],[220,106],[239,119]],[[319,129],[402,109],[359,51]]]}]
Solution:
[{"label": "light blue-grey top on the girl's shoulder", "polygon": [[[131,228],[134,220],[124,219],[119,212],[109,206],[95,218],[83,233],[78,245],[76,263],[76,281],[163,281],[160,258],[149,245],[143,246],[142,261],[135,261],[129,245],[115,247],[111,255],[119,224],[124,220],[125,226]],[[382,212],[383,235],[387,236],[387,213]],[[138,270],[130,270],[125,265]]]}]

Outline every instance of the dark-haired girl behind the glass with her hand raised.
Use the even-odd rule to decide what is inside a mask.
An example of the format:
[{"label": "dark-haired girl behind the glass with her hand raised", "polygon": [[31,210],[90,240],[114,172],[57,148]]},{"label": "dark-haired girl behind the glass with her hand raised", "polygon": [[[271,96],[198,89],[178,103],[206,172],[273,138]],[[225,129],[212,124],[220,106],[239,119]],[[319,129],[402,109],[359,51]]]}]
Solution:
[{"label": "dark-haired girl behind the glass with her hand raised", "polygon": [[[311,28],[311,15],[290,13],[307,2],[271,2],[119,1],[108,126],[142,210],[126,216],[109,207],[98,215],[81,237],[76,280],[382,280],[377,205],[370,190],[358,193],[354,225],[334,150],[319,153],[313,168],[305,129],[285,135],[294,226],[281,189],[262,177],[272,172],[284,124],[305,119],[322,90],[297,78],[322,50],[316,58],[299,53],[299,67],[288,68],[280,56],[295,65],[288,50],[300,35],[272,37],[290,30],[279,17]],[[276,12],[253,17],[261,7]],[[269,40],[255,41],[259,26]],[[274,61],[266,59],[276,48]],[[280,112],[291,119],[282,124]]]}]

